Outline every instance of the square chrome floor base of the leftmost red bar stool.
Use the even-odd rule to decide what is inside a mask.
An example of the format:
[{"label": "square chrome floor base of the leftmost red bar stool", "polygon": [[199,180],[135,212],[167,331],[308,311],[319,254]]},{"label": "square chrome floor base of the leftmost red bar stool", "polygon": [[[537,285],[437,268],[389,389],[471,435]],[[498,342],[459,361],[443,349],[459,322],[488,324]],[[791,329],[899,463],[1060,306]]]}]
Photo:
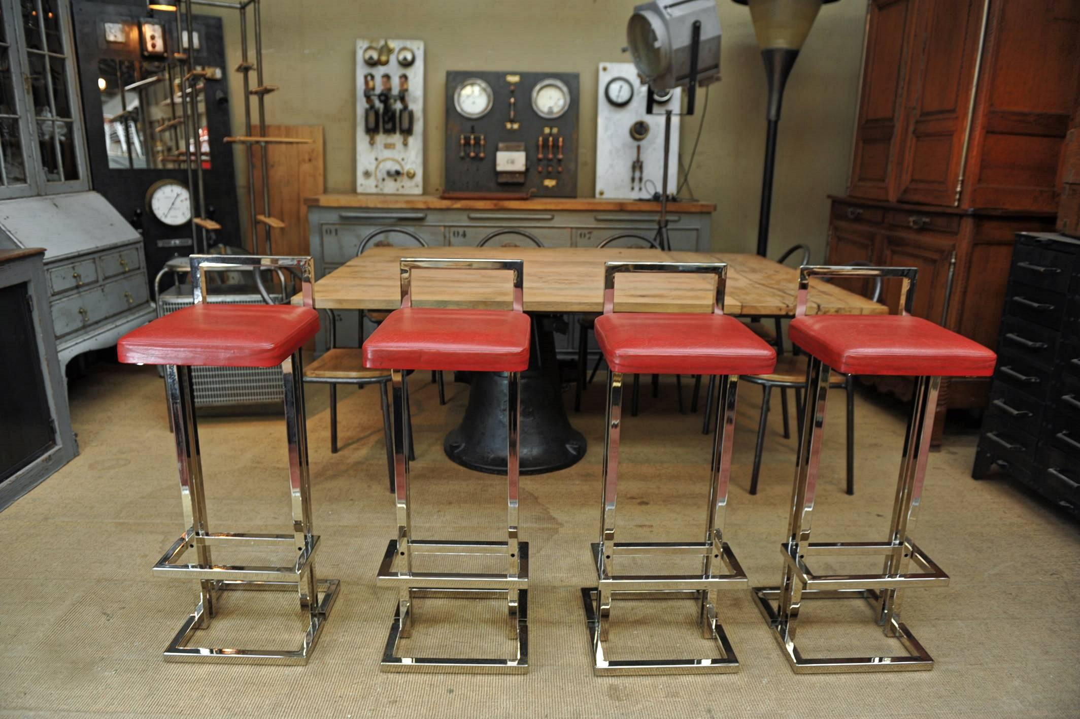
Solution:
[{"label": "square chrome floor base of the leftmost red bar stool", "polygon": [[[221,581],[214,582],[212,586],[215,595],[226,590],[256,590],[256,591],[289,591],[294,595],[297,591],[296,582],[237,582]],[[204,615],[202,603],[195,611],[188,615],[187,621],[180,630],[176,633],[173,641],[165,649],[164,657],[166,662],[221,662],[230,664],[307,664],[308,658],[319,642],[319,636],[323,631],[323,624],[337,600],[340,584],[337,580],[320,580],[316,589],[321,599],[318,608],[311,612],[311,624],[307,634],[303,635],[303,644],[294,651],[269,650],[269,649],[232,649],[232,648],[211,648],[211,647],[186,647],[188,640],[194,633],[203,626]]]}]

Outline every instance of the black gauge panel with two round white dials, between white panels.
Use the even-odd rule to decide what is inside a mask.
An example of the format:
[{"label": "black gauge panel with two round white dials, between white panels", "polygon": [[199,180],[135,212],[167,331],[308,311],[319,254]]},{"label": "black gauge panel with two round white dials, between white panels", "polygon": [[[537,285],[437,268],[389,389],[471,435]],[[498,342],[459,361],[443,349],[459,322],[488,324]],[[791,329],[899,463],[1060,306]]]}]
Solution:
[{"label": "black gauge panel with two round white dials, between white panels", "polygon": [[444,196],[576,197],[573,72],[446,74]]}]

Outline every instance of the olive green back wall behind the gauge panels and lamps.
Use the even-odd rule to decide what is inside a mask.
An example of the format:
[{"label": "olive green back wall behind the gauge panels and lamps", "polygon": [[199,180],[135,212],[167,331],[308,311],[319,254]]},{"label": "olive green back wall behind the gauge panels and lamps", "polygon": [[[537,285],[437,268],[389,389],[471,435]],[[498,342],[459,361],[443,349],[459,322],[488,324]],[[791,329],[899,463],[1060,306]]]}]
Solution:
[{"label": "olive green back wall behind the gauge panels and lamps", "polygon": [[[443,81],[447,69],[552,70],[581,75],[578,191],[592,197],[596,135],[596,71],[620,52],[634,0],[262,0],[267,121],[322,124],[327,191],[355,191],[355,40],[417,38],[426,43],[428,78],[426,192],[443,175]],[[753,252],[765,152],[766,82],[750,13],[719,0],[724,32],[720,71],[707,112],[687,118],[681,152],[705,127],[690,175],[696,196],[715,202],[714,248]],[[231,67],[240,57],[239,18],[221,15]],[[770,254],[807,242],[824,258],[825,195],[842,192],[848,176],[862,53],[865,2],[825,5],[792,72],[784,99],[773,194]],[[231,70],[230,67],[230,70]],[[242,128],[239,77],[230,76],[233,128]],[[240,158],[242,159],[242,158]],[[238,170],[244,165],[238,165]],[[246,173],[239,171],[241,183]]]}]

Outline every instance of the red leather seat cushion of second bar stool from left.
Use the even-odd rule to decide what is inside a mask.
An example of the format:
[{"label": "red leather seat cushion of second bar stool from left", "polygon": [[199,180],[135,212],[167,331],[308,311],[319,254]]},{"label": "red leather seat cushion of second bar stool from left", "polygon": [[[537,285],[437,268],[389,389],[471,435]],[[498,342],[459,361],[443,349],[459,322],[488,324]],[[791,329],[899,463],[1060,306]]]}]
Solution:
[{"label": "red leather seat cushion of second bar stool from left", "polygon": [[373,370],[521,372],[529,365],[528,315],[503,309],[405,307],[364,343]]}]

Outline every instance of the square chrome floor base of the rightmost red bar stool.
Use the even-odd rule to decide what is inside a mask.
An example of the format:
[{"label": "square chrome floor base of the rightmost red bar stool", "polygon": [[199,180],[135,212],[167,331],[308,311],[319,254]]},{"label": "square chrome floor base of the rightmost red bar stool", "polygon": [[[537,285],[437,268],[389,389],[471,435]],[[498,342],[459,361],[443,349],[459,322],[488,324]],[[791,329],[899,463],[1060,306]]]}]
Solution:
[{"label": "square chrome floor base of the rightmost red bar stool", "polygon": [[[780,617],[774,607],[780,601],[780,587],[754,587],[758,610],[769,623],[772,636],[784,651],[795,674],[835,674],[846,671],[927,671],[934,668],[934,661],[919,640],[907,630],[903,622],[890,620],[890,627],[900,643],[908,651],[899,656],[845,656],[812,658],[804,656],[794,642],[784,640]],[[804,589],[802,601],[810,599],[865,599],[877,605],[880,595],[874,589]]]}]

